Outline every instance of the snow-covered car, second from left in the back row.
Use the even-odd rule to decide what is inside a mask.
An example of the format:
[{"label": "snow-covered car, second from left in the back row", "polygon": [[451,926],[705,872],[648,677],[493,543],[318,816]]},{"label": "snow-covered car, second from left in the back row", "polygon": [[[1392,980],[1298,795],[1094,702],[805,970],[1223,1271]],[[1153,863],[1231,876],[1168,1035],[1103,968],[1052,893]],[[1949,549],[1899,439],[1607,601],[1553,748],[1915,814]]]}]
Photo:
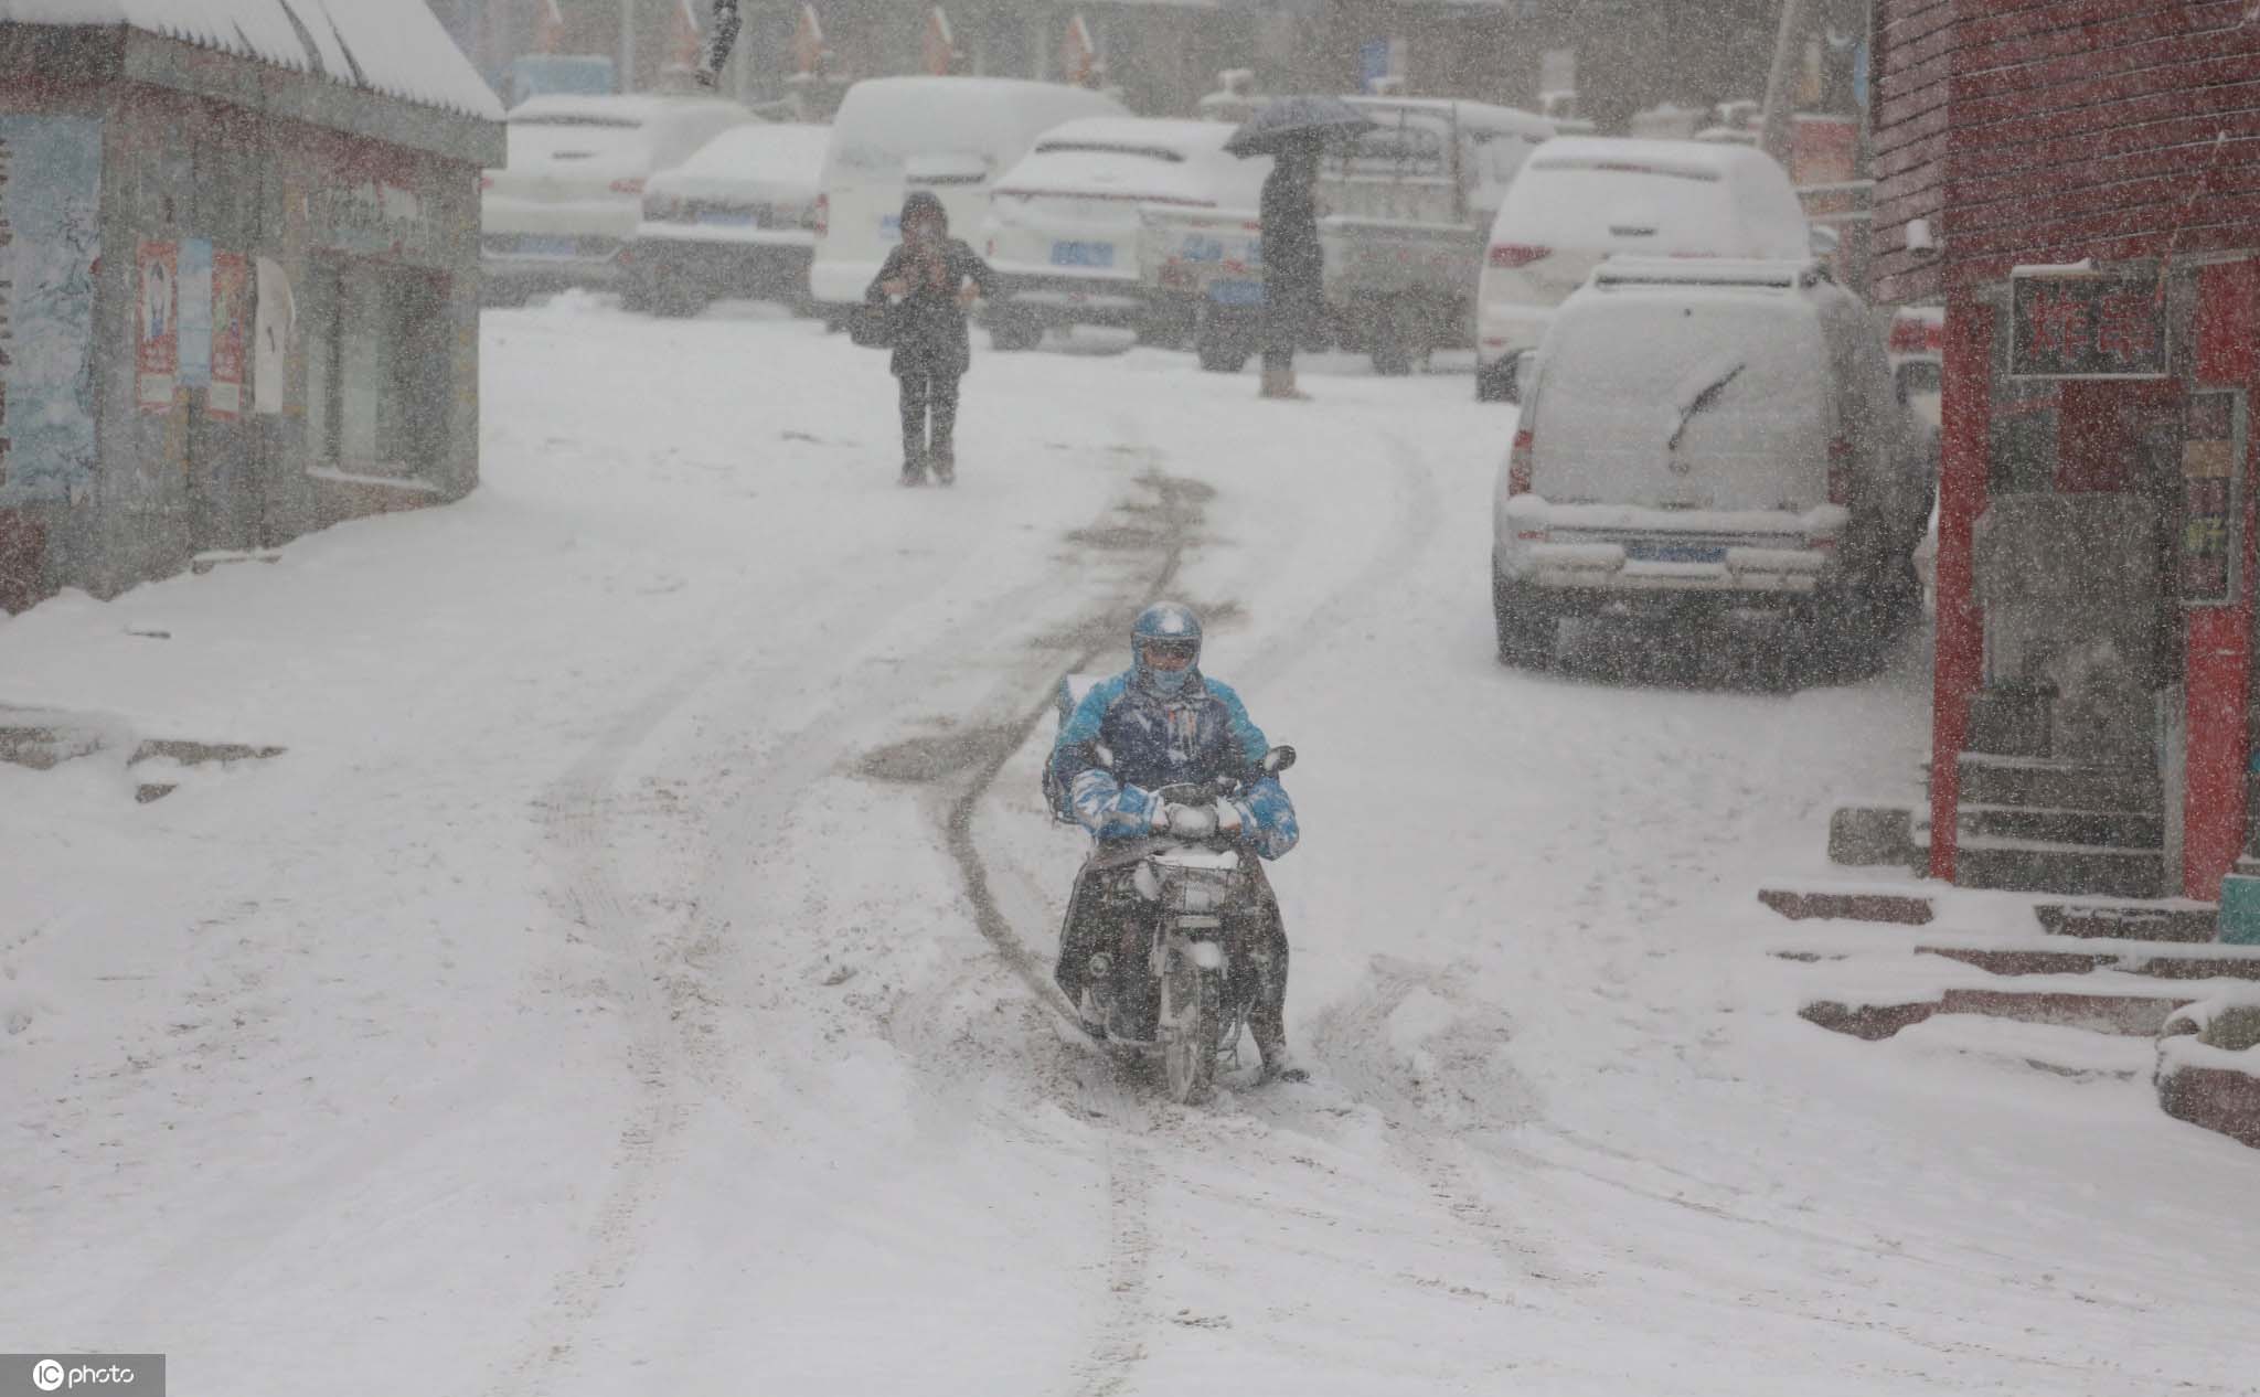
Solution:
[{"label": "snow-covered car, second from left in the back row", "polygon": [[827,127],[732,127],[644,185],[644,222],[619,253],[631,310],[692,314],[714,301],[807,305]]}]

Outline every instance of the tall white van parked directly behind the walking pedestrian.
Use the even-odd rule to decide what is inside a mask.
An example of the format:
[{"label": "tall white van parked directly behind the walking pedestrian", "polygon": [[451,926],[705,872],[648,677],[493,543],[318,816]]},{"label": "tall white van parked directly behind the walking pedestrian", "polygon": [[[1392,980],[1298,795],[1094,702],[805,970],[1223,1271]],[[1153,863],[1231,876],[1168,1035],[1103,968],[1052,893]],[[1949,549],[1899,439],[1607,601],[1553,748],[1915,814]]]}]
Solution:
[{"label": "tall white van parked directly behind the walking pedestrian", "polygon": [[974,240],[990,188],[1035,138],[1076,118],[1128,118],[1121,102],[1064,84],[1010,77],[872,77],[847,88],[832,118],[809,292],[827,319],[863,303],[902,240],[902,197],[931,190],[949,231]]}]

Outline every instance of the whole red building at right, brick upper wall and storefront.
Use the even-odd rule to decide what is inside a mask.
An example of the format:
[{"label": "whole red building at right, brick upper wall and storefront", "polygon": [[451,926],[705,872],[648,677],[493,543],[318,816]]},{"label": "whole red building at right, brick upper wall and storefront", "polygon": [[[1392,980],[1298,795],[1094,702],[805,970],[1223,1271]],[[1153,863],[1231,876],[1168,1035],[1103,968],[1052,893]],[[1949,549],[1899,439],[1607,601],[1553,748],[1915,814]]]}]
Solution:
[{"label": "whole red building at right, brick upper wall and storefront", "polygon": [[1930,870],[2246,850],[2260,7],[1878,0],[1874,289],[1946,305]]}]

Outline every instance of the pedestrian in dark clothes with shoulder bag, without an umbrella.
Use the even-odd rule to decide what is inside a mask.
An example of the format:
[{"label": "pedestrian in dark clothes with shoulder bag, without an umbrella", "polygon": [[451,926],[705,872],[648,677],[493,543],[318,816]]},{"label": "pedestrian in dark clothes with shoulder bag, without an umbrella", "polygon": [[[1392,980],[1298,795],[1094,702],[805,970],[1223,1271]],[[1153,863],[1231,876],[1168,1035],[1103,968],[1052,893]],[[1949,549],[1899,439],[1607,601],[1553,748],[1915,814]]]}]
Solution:
[{"label": "pedestrian in dark clothes with shoulder bag, without an umbrella", "polygon": [[972,366],[965,310],[994,289],[997,274],[949,235],[949,212],[927,190],[902,201],[902,242],[863,298],[886,305],[902,391],[902,484],[956,479],[958,380]]}]

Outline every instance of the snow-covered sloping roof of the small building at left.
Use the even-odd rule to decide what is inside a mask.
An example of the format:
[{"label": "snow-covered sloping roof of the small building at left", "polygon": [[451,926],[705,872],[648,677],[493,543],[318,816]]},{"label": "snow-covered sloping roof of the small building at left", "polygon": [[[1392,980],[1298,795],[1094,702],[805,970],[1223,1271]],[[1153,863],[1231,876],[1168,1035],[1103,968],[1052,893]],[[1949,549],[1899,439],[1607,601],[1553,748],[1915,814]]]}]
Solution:
[{"label": "snow-covered sloping roof of the small building at left", "polygon": [[344,86],[502,120],[425,0],[0,0],[0,25],[129,27]]}]

